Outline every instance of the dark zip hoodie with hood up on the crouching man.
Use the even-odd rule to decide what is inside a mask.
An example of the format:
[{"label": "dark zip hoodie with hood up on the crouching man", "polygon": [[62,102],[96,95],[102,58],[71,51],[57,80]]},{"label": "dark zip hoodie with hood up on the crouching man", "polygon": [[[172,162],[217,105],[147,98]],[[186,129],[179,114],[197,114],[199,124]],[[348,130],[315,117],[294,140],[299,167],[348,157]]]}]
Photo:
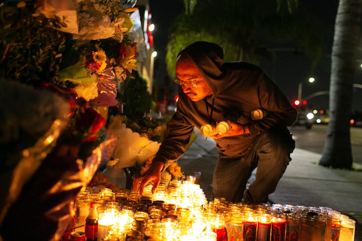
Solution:
[{"label": "dark zip hoodie with hood up on the crouching man", "polygon": [[[194,127],[209,124],[211,110],[212,122],[226,120],[230,113],[236,112],[240,116],[240,124],[246,124],[249,128],[249,136],[215,139],[219,152],[230,156],[244,155],[265,130],[275,127],[285,131],[286,126],[295,122],[297,110],[261,68],[245,62],[224,63],[222,48],[209,42],[195,42],[178,55],[181,53],[194,61],[209,85],[212,96],[207,96],[207,102],[194,102],[180,91],[177,111],[169,123],[168,135],[153,162],[162,162],[164,168],[167,168],[180,158]],[[270,113],[264,119],[254,121],[251,112],[255,109],[265,109]]]}]

